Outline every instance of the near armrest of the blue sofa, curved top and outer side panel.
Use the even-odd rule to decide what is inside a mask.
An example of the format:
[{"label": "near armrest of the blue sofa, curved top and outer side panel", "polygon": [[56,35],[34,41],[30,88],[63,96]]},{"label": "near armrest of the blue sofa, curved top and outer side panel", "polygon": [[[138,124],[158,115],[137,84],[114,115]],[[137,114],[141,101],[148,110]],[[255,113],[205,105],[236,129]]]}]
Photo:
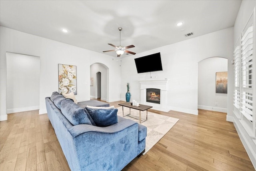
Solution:
[{"label": "near armrest of the blue sofa, curved top and outer side panel", "polygon": [[76,170],[122,170],[138,155],[138,123],[118,119],[108,127],[75,125],[69,153],[75,153]]}]

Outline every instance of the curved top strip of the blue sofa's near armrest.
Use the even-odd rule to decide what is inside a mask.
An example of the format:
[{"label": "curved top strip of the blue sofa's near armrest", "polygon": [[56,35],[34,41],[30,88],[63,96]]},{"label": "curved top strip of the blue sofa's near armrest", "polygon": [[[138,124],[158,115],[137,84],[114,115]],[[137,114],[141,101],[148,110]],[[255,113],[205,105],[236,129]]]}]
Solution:
[{"label": "curved top strip of the blue sofa's near armrest", "polygon": [[89,132],[116,133],[116,132],[122,131],[122,130],[126,129],[127,127],[130,127],[134,124],[138,124],[138,123],[135,121],[132,121],[130,119],[124,119],[114,125],[110,125],[107,127],[97,127],[97,126],[86,125],[86,124],[75,125],[73,127],[70,127],[68,129],[68,131],[70,132],[72,137],[75,138],[80,134],[89,133]]}]

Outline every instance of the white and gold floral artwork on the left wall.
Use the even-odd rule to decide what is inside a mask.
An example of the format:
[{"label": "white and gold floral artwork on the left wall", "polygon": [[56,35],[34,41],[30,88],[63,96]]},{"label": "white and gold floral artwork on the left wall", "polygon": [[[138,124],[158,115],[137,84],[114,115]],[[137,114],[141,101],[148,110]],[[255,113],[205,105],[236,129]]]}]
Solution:
[{"label": "white and gold floral artwork on the left wall", "polygon": [[59,93],[76,93],[76,66],[59,64]]}]

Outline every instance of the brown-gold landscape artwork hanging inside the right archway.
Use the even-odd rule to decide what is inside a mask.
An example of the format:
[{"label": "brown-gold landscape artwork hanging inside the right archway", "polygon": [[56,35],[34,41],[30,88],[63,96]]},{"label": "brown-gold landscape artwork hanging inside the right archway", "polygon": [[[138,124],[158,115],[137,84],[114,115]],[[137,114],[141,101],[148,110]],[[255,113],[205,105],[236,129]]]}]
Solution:
[{"label": "brown-gold landscape artwork hanging inside the right archway", "polygon": [[216,72],[216,93],[228,93],[228,72]]}]

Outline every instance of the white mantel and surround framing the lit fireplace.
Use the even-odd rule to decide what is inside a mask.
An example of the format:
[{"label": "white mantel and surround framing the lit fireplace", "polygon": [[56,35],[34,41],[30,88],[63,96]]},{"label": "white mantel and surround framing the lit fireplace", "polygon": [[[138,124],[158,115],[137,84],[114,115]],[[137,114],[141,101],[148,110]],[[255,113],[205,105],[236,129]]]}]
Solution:
[{"label": "white mantel and surround framing the lit fireplace", "polygon": [[[168,79],[164,80],[139,80],[140,82],[140,103],[144,105],[153,106],[153,109],[168,112],[170,109],[167,107],[167,91]],[[146,89],[156,88],[160,89],[160,104],[146,102]]]}]

